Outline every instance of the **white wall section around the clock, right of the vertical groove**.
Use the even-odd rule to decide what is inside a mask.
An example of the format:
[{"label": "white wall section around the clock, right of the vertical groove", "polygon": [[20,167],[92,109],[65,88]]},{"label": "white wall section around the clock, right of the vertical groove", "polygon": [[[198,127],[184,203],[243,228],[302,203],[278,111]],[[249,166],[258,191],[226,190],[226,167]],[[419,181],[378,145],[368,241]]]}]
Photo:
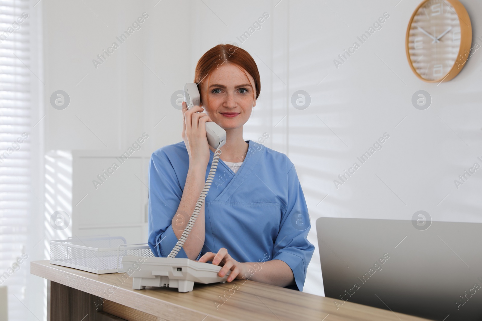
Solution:
[{"label": "white wall section around the clock, right of the vertical groove", "polygon": [[[419,1],[398,2],[290,2],[288,90],[308,91],[312,104],[306,110],[290,108],[288,155],[298,170],[312,222],[321,216],[411,219],[418,210],[433,220],[482,221],[482,175],[475,174],[458,190],[454,184],[464,169],[482,164],[477,160],[482,156],[480,50],[452,81],[422,82],[410,69],[404,47]],[[476,17],[482,3],[462,2],[471,16],[474,41],[481,45]],[[385,12],[390,17],[382,29],[336,68],[338,54]],[[417,90],[431,95],[428,109],[412,105]],[[390,138],[383,149],[336,189],[337,176],[385,132]],[[316,242],[313,229],[310,241]],[[322,293],[319,259],[315,251],[307,292]]]}]

